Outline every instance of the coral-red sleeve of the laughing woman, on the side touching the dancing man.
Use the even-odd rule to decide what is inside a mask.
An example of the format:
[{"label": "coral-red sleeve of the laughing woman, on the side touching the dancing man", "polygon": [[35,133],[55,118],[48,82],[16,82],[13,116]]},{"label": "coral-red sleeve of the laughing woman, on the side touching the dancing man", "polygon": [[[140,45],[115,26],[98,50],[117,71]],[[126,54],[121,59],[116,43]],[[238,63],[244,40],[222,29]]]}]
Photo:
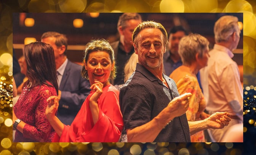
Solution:
[{"label": "coral-red sleeve of the laughing woman, on the side touching the dancing man", "polygon": [[108,91],[101,97],[98,104],[99,120],[88,133],[81,135],[79,141],[117,142],[123,129],[123,119],[117,94]]}]

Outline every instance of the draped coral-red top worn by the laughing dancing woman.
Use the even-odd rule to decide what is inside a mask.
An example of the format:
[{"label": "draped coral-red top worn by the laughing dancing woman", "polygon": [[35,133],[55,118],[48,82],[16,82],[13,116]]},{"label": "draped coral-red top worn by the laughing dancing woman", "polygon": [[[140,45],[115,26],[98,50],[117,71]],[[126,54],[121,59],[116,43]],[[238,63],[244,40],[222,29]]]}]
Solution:
[{"label": "draped coral-red top worn by the laughing dancing woman", "polygon": [[[107,88],[106,88],[107,87]],[[119,106],[119,91],[112,85],[103,88],[98,99],[99,119],[94,125],[89,99],[86,98],[70,126],[64,126],[61,137],[55,135],[53,142],[117,142],[123,129]]]}]

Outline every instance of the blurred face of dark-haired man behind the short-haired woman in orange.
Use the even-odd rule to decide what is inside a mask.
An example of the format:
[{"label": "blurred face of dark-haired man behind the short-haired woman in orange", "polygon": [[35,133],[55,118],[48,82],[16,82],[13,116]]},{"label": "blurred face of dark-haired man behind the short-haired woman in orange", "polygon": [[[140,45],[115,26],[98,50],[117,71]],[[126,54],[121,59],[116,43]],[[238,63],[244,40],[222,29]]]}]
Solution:
[{"label": "blurred face of dark-haired man behind the short-haired woman in orange", "polygon": [[184,37],[186,34],[183,31],[177,31],[174,34],[170,34],[169,40],[168,40],[168,48],[170,49],[172,54],[178,54],[179,50],[179,41],[182,37]]}]

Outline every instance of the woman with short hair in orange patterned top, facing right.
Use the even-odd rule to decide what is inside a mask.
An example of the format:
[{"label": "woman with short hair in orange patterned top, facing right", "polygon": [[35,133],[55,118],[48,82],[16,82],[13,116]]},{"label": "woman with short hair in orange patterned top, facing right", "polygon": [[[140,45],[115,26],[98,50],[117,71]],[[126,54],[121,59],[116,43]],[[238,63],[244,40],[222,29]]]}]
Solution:
[{"label": "woman with short hair in orange patterned top, facing right", "polygon": [[[186,111],[188,121],[203,120],[210,116],[203,112],[206,102],[196,77],[197,72],[207,65],[208,45],[208,40],[199,34],[183,37],[178,51],[183,64],[170,75],[177,84],[179,94],[192,93],[189,109]],[[205,142],[203,131],[191,135],[190,138],[191,142]]]}]

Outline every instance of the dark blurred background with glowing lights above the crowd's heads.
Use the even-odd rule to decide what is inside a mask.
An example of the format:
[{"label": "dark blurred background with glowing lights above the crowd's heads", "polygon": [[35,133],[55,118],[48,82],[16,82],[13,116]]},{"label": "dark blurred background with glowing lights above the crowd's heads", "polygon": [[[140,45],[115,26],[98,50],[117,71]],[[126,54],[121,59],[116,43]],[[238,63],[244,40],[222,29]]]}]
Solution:
[{"label": "dark blurred background with glowing lights above the crowd's heads", "polygon": [[[14,13],[13,47],[16,57],[22,56],[24,44],[40,41],[46,31],[66,34],[68,38],[67,58],[82,62],[83,50],[91,39],[105,38],[109,42],[119,39],[118,18],[122,13]],[[243,22],[242,13],[140,13],[143,21],[160,22],[167,32],[173,26],[182,25],[189,32],[208,38],[210,48],[214,45],[214,22],[223,15],[238,17]],[[242,26],[242,25],[241,25]],[[238,49],[234,60],[243,65],[243,29],[241,27]],[[242,68],[241,68],[242,69]],[[242,78],[243,79],[243,78]]]}]

